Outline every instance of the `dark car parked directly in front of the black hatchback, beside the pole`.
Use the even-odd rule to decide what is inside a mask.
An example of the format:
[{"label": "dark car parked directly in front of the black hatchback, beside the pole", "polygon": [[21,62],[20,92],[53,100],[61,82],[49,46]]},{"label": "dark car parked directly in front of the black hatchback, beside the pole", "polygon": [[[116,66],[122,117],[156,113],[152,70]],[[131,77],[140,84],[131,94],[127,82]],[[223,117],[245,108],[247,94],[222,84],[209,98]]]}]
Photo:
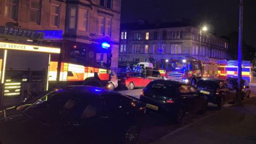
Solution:
[{"label": "dark car parked directly in front of the black hatchback, beside the pole", "polygon": [[236,90],[221,79],[200,79],[196,85],[205,94],[207,102],[212,102],[221,108],[224,103],[236,100]]}]

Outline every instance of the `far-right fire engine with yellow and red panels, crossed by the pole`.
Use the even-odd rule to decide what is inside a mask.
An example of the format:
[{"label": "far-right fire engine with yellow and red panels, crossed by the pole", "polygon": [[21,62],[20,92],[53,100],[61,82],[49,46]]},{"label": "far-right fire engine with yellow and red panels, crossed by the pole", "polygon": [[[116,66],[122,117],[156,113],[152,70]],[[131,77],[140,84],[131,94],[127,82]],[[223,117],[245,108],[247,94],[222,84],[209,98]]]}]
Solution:
[{"label": "far-right fire engine with yellow and red panels, crossed by the pole", "polygon": [[[251,68],[252,63],[250,61],[242,61],[242,79],[246,79],[247,82],[251,82]],[[236,60],[219,61],[218,66],[218,78],[227,79],[228,77],[238,76],[238,62]]]}]

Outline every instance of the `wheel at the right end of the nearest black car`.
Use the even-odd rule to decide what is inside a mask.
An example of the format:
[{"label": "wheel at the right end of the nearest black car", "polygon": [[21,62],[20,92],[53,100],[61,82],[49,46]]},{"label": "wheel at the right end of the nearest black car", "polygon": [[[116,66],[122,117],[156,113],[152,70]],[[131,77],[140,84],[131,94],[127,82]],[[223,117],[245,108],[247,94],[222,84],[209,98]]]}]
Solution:
[{"label": "wheel at the right end of the nearest black car", "polygon": [[137,126],[130,126],[125,132],[125,144],[135,144],[139,137],[139,129]]}]

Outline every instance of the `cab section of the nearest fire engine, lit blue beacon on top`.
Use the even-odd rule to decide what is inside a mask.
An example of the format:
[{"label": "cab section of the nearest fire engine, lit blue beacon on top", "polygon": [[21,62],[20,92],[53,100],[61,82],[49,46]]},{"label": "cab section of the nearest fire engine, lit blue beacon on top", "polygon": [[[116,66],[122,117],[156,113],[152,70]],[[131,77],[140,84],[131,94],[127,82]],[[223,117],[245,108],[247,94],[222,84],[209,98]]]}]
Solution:
[{"label": "cab section of the nearest fire engine, lit blue beacon on top", "polygon": [[50,61],[50,89],[65,85],[105,87],[111,84],[111,50],[108,43],[98,45],[65,40],[61,50],[61,54]]}]

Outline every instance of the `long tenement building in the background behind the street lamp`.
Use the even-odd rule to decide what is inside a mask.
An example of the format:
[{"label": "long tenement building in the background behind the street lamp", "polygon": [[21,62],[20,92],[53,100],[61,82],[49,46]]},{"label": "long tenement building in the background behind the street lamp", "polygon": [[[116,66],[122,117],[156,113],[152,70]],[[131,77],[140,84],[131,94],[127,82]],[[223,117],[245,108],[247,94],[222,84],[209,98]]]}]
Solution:
[{"label": "long tenement building in the background behind the street lamp", "polygon": [[121,29],[119,61],[153,62],[181,56],[207,60],[228,59],[228,41],[195,27]]}]

